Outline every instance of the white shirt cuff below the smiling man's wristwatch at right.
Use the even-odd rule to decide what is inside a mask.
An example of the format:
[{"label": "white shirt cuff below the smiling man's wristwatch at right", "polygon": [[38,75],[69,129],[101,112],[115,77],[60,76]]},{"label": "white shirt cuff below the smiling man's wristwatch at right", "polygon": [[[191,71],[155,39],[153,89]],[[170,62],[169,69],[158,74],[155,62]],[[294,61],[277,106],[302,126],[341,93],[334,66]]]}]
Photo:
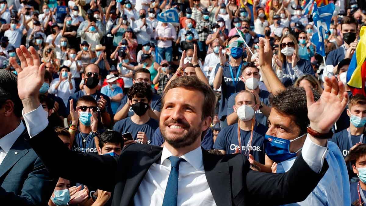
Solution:
[{"label": "white shirt cuff below the smiling man's wristwatch at right", "polygon": [[317,145],[311,141],[309,134],[307,134],[301,155],[307,165],[316,173],[319,173],[323,167],[324,158],[328,154],[327,148],[328,143],[325,147]]}]

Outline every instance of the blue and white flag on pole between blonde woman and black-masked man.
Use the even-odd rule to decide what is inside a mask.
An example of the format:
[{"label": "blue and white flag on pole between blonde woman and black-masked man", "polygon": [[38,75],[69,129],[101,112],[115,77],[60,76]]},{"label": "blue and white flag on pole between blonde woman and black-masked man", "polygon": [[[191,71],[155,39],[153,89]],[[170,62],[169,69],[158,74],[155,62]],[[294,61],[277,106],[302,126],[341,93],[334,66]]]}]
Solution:
[{"label": "blue and white flag on pole between blonde woman and black-masked man", "polygon": [[318,29],[318,32],[313,34],[311,42],[314,45],[316,45],[317,53],[322,56],[325,56],[325,47],[324,47],[325,33],[329,31],[330,21],[332,20],[335,8],[336,7],[333,3],[319,8],[317,7],[317,4],[314,4],[313,21],[314,25]]}]

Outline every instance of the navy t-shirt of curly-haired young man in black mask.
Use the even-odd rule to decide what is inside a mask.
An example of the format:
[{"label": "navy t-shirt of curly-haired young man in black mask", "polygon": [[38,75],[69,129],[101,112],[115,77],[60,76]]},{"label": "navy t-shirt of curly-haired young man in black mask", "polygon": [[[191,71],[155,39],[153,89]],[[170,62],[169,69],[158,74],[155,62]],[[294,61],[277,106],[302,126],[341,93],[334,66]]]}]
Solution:
[{"label": "navy t-shirt of curly-haired young man in black mask", "polygon": [[153,118],[150,118],[145,124],[139,125],[135,122],[132,122],[131,117],[128,117],[116,122],[116,124],[113,126],[113,130],[120,132],[121,134],[130,132],[134,140],[136,140],[137,132],[145,132],[147,144],[150,144],[154,132],[158,127],[159,122]]}]

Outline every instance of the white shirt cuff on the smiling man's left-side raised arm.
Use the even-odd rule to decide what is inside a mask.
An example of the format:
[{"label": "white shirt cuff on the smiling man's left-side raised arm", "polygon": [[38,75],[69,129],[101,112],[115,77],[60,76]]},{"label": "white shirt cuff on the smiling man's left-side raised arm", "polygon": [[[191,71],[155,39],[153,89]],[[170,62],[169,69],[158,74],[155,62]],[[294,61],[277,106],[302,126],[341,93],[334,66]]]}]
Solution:
[{"label": "white shirt cuff on the smiling man's left-side raised arm", "polygon": [[30,138],[38,135],[47,127],[48,119],[45,113],[41,104],[38,108],[26,114],[24,114],[23,109],[22,115]]}]

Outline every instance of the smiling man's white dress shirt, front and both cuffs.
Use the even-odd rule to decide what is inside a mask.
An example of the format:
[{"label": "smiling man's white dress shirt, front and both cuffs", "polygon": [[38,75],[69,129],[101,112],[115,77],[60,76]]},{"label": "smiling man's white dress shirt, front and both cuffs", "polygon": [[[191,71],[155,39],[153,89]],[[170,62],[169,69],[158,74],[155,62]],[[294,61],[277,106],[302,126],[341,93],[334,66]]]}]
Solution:
[{"label": "smiling man's white dress shirt, front and both cuffs", "polygon": [[[42,105],[29,113],[22,111],[23,118],[30,138],[36,136],[48,125],[48,119],[44,114]],[[327,154],[326,147],[315,144],[306,137],[302,147],[302,157],[304,161],[314,172],[320,172]],[[145,177],[143,178],[135,196],[135,205],[162,205],[165,188],[167,187],[171,165],[168,157],[171,152],[164,147],[160,164],[153,163]],[[179,165],[179,183],[178,183],[178,204],[185,205],[216,205],[210,187],[207,183],[205,169],[203,168],[201,147],[190,151],[180,158],[187,162],[181,162]],[[266,187],[266,185],[263,185]]]}]

